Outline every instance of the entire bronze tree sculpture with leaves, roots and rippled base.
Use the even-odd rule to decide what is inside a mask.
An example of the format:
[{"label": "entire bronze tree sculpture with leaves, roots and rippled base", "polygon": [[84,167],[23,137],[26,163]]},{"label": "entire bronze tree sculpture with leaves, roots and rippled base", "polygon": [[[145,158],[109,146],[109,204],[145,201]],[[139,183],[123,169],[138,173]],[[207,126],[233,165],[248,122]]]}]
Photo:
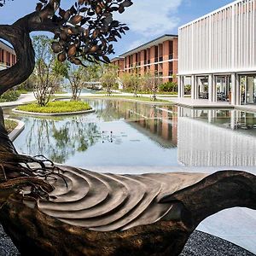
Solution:
[{"label": "entire bronze tree sculpture with leaves, roots and rippled base", "polygon": [[[122,13],[130,0],[79,0],[68,10],[60,4],[41,0],[32,14],[0,26],[18,60],[0,72],[0,95],[32,73],[30,32],[53,32],[59,61],[83,65],[108,62],[111,42],[128,29],[112,13]],[[247,172],[122,176],[20,155],[3,113],[0,173],[0,221],[24,255],[178,255],[207,216],[229,207],[256,209],[256,177]]]}]

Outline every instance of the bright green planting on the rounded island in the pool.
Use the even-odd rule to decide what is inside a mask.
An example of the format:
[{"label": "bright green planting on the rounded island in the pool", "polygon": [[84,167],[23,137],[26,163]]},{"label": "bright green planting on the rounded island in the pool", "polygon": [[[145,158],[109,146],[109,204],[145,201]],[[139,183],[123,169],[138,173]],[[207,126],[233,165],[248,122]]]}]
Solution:
[{"label": "bright green planting on the rounded island in the pool", "polygon": [[85,102],[49,102],[45,107],[32,103],[19,106],[17,109],[32,113],[69,113],[90,110],[91,107]]}]

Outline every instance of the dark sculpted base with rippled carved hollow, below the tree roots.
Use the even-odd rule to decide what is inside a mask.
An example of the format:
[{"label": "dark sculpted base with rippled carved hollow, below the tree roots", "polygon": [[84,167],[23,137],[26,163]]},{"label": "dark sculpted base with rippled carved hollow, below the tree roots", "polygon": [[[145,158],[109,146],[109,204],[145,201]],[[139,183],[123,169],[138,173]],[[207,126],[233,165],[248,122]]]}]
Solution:
[{"label": "dark sculpted base with rippled carved hollow, below the tree roots", "polygon": [[256,209],[256,177],[247,172],[135,176],[61,169],[65,181],[55,176],[49,200],[11,194],[0,210],[23,255],[178,255],[207,216],[229,207]]}]

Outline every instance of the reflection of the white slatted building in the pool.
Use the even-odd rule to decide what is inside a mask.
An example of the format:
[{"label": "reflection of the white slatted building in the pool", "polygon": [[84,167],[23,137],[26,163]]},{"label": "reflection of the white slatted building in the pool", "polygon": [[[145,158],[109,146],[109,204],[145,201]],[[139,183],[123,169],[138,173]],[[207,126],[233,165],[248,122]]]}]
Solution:
[{"label": "reflection of the white slatted building in the pool", "polygon": [[180,108],[179,116],[177,155],[183,165],[256,166],[256,121],[251,115]]}]

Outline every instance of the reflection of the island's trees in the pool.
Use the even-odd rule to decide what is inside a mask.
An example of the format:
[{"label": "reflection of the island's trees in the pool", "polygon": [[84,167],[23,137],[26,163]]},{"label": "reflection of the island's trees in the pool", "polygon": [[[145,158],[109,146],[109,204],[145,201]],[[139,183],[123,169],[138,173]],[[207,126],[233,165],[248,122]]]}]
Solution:
[{"label": "reflection of the island's trees in the pool", "polygon": [[[38,135],[35,140],[35,135]],[[29,154],[44,154],[51,160],[64,163],[76,152],[84,152],[101,137],[95,123],[88,123],[83,116],[67,122],[49,119],[33,119],[30,133],[26,137]]]}]

